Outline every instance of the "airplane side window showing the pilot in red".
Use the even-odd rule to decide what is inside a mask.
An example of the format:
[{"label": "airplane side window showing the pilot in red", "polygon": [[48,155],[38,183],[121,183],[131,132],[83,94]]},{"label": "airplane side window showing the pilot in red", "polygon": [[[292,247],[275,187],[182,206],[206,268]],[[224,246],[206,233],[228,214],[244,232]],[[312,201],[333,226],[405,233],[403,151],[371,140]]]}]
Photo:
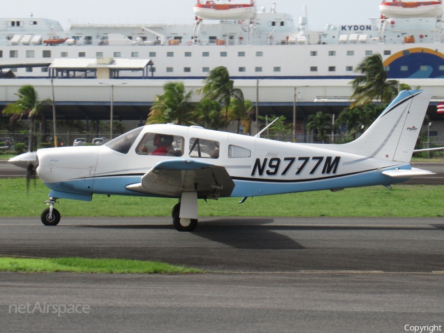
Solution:
[{"label": "airplane side window showing the pilot in red", "polygon": [[185,140],[183,137],[162,133],[146,133],[136,146],[139,155],[182,156]]}]

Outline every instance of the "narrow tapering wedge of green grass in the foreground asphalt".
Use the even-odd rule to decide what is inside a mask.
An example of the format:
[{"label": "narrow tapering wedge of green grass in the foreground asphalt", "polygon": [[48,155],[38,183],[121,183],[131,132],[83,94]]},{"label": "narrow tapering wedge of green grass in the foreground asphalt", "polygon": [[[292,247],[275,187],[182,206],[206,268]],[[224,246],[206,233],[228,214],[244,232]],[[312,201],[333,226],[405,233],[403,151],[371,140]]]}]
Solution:
[{"label": "narrow tapering wedge of green grass in the foreground asphalt", "polygon": [[160,261],[129,259],[67,258],[11,258],[0,257],[0,271],[28,273],[130,273],[130,274],[185,274],[203,273],[202,270],[170,265]]}]

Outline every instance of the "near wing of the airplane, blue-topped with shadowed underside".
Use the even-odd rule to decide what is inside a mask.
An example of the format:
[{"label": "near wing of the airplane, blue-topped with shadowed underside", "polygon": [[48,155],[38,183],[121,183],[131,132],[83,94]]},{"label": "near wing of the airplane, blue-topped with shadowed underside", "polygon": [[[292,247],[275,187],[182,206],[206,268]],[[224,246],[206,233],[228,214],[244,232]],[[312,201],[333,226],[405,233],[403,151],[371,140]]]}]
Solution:
[{"label": "near wing of the airplane, blue-topped with shadowed underside", "polygon": [[142,176],[141,182],[127,189],[161,196],[180,197],[182,192],[197,192],[198,198],[229,196],[234,182],[220,165],[192,159],[165,160]]}]

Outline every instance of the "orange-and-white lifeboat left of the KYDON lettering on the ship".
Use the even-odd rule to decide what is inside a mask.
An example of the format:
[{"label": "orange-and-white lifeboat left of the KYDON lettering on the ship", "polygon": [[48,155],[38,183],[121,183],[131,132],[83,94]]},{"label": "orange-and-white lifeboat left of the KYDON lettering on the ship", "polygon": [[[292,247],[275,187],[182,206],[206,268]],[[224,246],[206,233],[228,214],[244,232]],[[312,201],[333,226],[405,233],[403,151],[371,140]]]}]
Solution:
[{"label": "orange-and-white lifeboat left of the KYDON lettering on the ship", "polygon": [[[230,0],[229,0],[230,1]],[[194,15],[201,20],[248,20],[256,11],[254,0],[251,3],[215,3],[197,0]]]}]

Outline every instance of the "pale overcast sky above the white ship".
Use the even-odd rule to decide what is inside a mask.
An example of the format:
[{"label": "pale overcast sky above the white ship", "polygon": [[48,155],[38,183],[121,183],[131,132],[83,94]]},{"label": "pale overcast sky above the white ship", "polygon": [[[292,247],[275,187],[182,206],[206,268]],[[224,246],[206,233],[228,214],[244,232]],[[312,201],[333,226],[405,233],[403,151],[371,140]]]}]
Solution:
[{"label": "pale overcast sky above the white ship", "polygon": [[[220,0],[222,3],[224,0]],[[249,0],[232,0],[249,3]],[[273,1],[256,0],[257,6],[269,11]],[[66,29],[69,19],[95,23],[192,23],[193,5],[197,0],[16,0],[3,6],[1,17],[43,17],[57,20]],[[217,2],[217,1],[216,1]],[[323,29],[326,24],[369,24],[379,17],[380,0],[275,0],[276,11],[293,15],[296,26],[307,6],[310,30]]]}]

